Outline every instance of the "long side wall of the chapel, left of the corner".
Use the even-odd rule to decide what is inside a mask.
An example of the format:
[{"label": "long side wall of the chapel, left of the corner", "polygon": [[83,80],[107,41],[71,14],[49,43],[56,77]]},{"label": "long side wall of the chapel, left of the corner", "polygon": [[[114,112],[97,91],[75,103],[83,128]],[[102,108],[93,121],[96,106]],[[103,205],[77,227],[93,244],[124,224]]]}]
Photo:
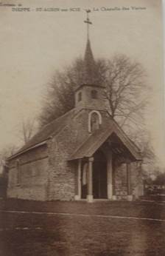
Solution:
[{"label": "long side wall of the chapel, left of the corner", "polygon": [[46,146],[32,149],[10,161],[7,197],[45,201],[48,168]]}]

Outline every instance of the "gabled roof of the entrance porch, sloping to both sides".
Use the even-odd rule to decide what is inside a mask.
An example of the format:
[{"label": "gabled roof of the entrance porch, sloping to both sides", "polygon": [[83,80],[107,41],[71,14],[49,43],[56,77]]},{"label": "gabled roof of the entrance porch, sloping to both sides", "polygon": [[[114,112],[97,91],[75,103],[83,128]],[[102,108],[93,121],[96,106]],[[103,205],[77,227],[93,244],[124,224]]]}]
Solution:
[{"label": "gabled roof of the entrance porch, sloping to both sides", "polygon": [[133,141],[127,137],[116,122],[113,122],[113,124],[111,124],[108,128],[98,129],[91,134],[88,139],[71,155],[69,161],[90,158],[113,133],[116,134],[120,141],[122,141],[135,161],[141,161],[140,149],[138,149],[138,146],[136,146],[136,144],[134,144]]}]

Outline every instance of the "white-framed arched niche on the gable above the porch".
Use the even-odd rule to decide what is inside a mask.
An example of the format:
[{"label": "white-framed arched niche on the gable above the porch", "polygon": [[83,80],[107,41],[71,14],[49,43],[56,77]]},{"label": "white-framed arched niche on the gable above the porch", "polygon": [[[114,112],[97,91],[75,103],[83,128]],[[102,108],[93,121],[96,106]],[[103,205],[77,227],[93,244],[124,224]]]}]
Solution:
[{"label": "white-framed arched niche on the gable above the porch", "polygon": [[92,110],[88,115],[88,132],[94,132],[102,124],[102,115],[99,111]]}]

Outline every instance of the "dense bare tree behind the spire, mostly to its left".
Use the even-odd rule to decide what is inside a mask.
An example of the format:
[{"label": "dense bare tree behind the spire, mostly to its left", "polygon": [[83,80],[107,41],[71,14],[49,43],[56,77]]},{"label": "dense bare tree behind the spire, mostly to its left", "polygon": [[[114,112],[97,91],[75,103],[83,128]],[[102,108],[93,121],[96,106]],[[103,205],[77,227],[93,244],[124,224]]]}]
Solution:
[{"label": "dense bare tree behind the spire, mostly to its left", "polygon": [[[96,61],[95,73],[91,81],[94,84],[103,84],[104,61]],[[74,90],[85,84],[85,67],[82,58],[77,58],[69,67],[56,71],[53,78],[46,85],[46,95],[43,96],[43,109],[39,117],[41,126],[48,124],[60,115],[74,108]]]}]

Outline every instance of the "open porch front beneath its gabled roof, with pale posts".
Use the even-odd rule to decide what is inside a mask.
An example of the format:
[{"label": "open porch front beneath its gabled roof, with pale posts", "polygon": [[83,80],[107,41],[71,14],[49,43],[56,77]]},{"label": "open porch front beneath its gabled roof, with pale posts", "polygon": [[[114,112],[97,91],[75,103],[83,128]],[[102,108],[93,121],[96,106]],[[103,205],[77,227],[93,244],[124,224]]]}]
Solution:
[{"label": "open porch front beneath its gabled roof, with pale posts", "polygon": [[[119,166],[124,167],[123,170]],[[121,170],[124,186],[118,177]],[[93,157],[78,160],[76,201],[85,200],[91,203],[119,199],[133,200],[130,162],[119,163],[113,152],[105,154],[100,149]]]}]

